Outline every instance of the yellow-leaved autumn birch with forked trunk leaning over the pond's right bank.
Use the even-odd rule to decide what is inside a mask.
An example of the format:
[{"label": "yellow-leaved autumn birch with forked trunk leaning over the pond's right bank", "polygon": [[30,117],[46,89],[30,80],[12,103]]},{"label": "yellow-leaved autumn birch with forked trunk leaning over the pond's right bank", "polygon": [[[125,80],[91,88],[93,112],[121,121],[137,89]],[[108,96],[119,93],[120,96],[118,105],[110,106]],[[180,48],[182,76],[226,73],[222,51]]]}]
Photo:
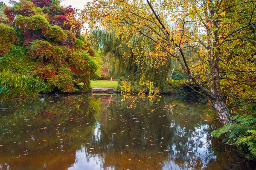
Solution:
[{"label": "yellow-leaved autumn birch with forked trunk leaning over the pond's right bank", "polygon": [[[240,43],[233,51],[239,40],[255,42],[255,8],[255,1],[245,0],[94,0],[83,14],[91,28],[115,30],[123,40],[137,32],[142,40],[156,44],[156,57],[177,59],[200,89],[197,92],[211,100],[220,120],[227,123],[232,114],[224,83],[255,85],[256,55],[246,54],[255,46]],[[229,57],[233,62],[226,62]]]}]

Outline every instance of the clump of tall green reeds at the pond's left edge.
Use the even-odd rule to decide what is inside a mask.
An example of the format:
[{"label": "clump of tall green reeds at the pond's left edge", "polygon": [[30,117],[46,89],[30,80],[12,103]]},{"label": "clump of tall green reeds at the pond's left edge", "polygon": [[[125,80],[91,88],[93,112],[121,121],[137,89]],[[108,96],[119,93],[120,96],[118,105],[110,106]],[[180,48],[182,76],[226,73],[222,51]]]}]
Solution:
[{"label": "clump of tall green reeds at the pond's left edge", "polygon": [[0,99],[36,96],[44,92],[46,84],[38,77],[4,70],[0,73]]}]

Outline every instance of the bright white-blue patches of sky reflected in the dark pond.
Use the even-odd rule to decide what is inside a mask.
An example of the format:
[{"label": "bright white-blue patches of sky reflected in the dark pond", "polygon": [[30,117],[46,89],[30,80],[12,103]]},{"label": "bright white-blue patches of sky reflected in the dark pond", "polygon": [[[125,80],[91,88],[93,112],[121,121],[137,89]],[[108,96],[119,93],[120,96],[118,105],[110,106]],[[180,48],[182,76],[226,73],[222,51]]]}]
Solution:
[{"label": "bright white-blue patches of sky reflected in the dark pond", "polygon": [[[99,142],[101,140],[101,130],[100,130],[101,124],[96,121],[96,126],[93,132],[93,138],[96,142]],[[176,132],[178,132],[178,136],[182,137],[185,136],[188,138],[189,143],[186,143],[189,147],[189,150],[179,150],[176,146],[175,142],[172,144],[172,149],[170,148],[170,145],[166,146],[166,149],[171,150],[169,152],[169,157],[171,159],[176,159],[174,155],[179,155],[180,152],[185,152],[186,156],[189,157],[189,154],[196,153],[195,156],[198,156],[203,161],[203,167],[206,167],[206,165],[209,163],[209,159],[205,157],[205,155],[211,155],[212,159],[215,159],[216,156],[214,155],[214,152],[209,151],[208,146],[211,145],[211,141],[207,140],[207,136],[209,133],[205,132],[209,129],[209,125],[201,125],[198,127],[195,127],[194,131],[189,130],[189,133],[186,132],[186,127],[182,128],[179,124],[170,124],[170,127],[175,128]],[[195,147],[192,147],[192,144],[195,144]],[[173,152],[172,152],[173,151]],[[99,170],[103,169],[102,165],[104,164],[104,158],[99,155],[87,155],[85,153],[88,153],[89,151],[83,148],[82,150],[76,151],[76,163],[72,165],[72,167],[68,168],[68,170]],[[174,153],[174,154],[173,154]],[[103,154],[104,155],[104,154]],[[179,164],[179,162],[175,162],[173,160],[169,159],[169,161],[164,161],[162,169],[163,170],[186,170],[186,168],[182,168]],[[184,164],[183,164],[184,166]],[[114,170],[114,167],[108,167],[108,170]]]}]

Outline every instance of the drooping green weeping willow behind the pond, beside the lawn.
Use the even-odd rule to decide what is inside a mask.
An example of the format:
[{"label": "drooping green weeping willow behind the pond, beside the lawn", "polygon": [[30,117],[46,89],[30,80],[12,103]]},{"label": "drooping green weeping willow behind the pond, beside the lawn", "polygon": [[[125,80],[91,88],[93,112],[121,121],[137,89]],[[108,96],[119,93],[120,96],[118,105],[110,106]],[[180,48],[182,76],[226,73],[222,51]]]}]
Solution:
[{"label": "drooping green weeping willow behind the pond, beside the lawn", "polygon": [[115,31],[98,29],[91,33],[90,38],[96,42],[96,48],[101,49],[102,55],[108,58],[110,76],[115,77],[119,85],[124,80],[130,82],[134,92],[148,91],[147,82],[161,90],[168,88],[166,80],[174,67],[179,68],[174,59],[156,57],[159,55],[156,44],[141,39],[137,34],[124,37]]}]

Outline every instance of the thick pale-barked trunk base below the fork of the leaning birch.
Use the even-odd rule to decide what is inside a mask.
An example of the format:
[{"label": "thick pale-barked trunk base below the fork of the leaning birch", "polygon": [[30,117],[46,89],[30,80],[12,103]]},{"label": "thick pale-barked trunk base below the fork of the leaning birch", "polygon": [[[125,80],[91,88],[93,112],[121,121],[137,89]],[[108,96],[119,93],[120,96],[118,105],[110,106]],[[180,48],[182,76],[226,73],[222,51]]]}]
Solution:
[{"label": "thick pale-barked trunk base below the fork of the leaning birch", "polygon": [[224,124],[232,122],[232,114],[230,109],[227,107],[226,102],[223,99],[212,100],[212,108],[217,111],[220,121]]}]

